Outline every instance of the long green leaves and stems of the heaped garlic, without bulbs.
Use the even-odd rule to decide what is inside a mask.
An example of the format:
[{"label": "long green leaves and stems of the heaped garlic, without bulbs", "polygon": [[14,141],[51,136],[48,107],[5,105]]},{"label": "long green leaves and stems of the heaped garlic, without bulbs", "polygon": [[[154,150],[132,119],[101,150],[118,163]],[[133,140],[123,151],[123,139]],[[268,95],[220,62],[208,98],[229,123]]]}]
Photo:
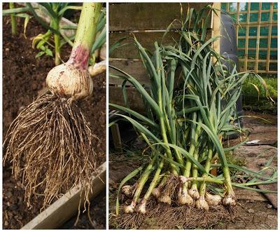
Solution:
[{"label": "long green leaves and stems of the heaped garlic, without bulbs", "polygon": [[134,38],[151,88],[142,86],[125,71],[111,67],[118,71],[118,74],[110,73],[111,78],[123,80],[123,86],[130,83],[137,89],[146,107],[146,115],[130,109],[125,88],[123,97],[126,106],[110,106],[127,113],[115,115],[132,123],[134,129],[144,137],[153,151],[151,160],[156,159],[155,163],[150,163],[155,168],[159,168],[158,164],[164,160],[174,175],[189,177],[192,168],[193,173],[196,170],[207,177],[212,153],[217,153],[223,176],[211,178],[223,179],[225,194],[233,196],[229,168],[246,169],[229,164],[225,150],[235,149],[241,143],[224,149],[221,139],[235,132],[244,132],[235,123],[238,121],[237,116],[232,116],[237,111],[236,102],[241,94],[242,83],[252,76],[264,86],[265,95],[268,96],[266,83],[258,74],[239,73],[236,66],[232,70],[227,69],[225,62],[229,60],[216,53],[212,47],[219,37],[208,40],[206,37],[207,22],[211,20],[211,13],[216,13],[211,5],[201,11],[189,8],[186,12],[186,15],[181,15],[181,30],[177,31],[180,39],[174,46],[155,42],[154,50],[150,51]]}]

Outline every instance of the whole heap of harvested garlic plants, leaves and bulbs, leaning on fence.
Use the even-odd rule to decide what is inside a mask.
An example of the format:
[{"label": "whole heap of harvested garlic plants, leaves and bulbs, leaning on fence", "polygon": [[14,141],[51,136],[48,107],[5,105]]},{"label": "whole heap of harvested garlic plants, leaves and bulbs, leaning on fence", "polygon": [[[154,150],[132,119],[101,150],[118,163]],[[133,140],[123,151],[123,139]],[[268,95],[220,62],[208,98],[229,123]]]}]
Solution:
[{"label": "whole heap of harvested garlic plants, leaves and bulbs, leaning on fence", "polygon": [[[253,75],[264,86],[266,94],[267,87],[258,74],[238,73],[236,66],[232,71],[227,69],[225,62],[230,60],[212,48],[212,43],[219,36],[207,40],[211,13],[216,13],[212,6],[205,6],[201,11],[189,8],[181,21],[181,30],[177,32],[180,39],[174,46],[163,46],[155,42],[155,50],[151,52],[134,39],[150,78],[151,88],[144,88],[130,74],[111,67],[118,71],[118,74],[110,73],[111,77],[123,80],[123,86],[130,83],[137,89],[143,99],[146,115],[130,109],[123,88],[126,107],[109,104],[123,112],[113,113],[121,119],[110,125],[118,120],[132,123],[146,141],[149,148],[146,152],[151,156],[148,164],[141,165],[120,183],[118,193],[121,191],[124,196],[132,199],[130,205],[123,207],[125,213],[136,211],[146,214],[151,195],[167,205],[176,202],[217,212],[214,210],[217,205],[236,204],[233,186],[262,191],[251,186],[276,182],[275,173],[268,177],[262,175],[262,172],[232,165],[225,156],[226,152],[247,141],[240,137],[241,142],[231,147],[227,147],[224,141],[232,133],[244,135],[246,132],[239,127],[239,118],[235,114],[241,84],[249,75]],[[211,174],[213,168],[218,168],[218,176]],[[244,177],[254,175],[261,180],[255,178],[255,182],[241,184],[232,182],[235,179],[231,176],[232,169],[240,170]],[[139,173],[141,175],[137,183],[125,185]],[[147,189],[145,193],[144,189]],[[119,196],[116,200],[117,215],[118,199]],[[148,209],[151,210],[151,207]],[[131,221],[127,219],[123,226]]]}]

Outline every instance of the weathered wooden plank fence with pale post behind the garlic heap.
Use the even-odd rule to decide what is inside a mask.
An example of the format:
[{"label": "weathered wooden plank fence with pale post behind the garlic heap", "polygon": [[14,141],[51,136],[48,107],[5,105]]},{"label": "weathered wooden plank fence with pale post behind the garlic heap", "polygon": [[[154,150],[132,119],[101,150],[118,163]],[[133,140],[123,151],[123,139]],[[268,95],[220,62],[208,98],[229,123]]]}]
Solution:
[{"label": "weathered wooden plank fence with pale post behind the garlic heap", "polygon": [[[140,60],[138,50],[133,43],[132,34],[137,38],[144,48],[153,50],[153,43],[161,41],[165,29],[174,20],[181,18],[181,6],[183,11],[190,8],[200,9],[209,3],[129,3],[129,4],[110,4],[109,5],[109,47],[113,43],[124,37],[131,37],[124,43],[126,46],[113,50],[109,55],[109,64],[118,67],[128,74],[134,76],[140,83],[150,85],[150,80],[146,74],[146,69]],[[216,4],[215,8],[221,8],[221,4]],[[211,23],[208,25],[207,35],[209,37],[220,34],[220,19],[212,14]],[[176,22],[174,29],[180,29],[181,25]],[[179,35],[169,32],[162,44],[173,45],[174,39]],[[220,43],[214,43],[214,48],[219,49]],[[114,71],[109,69],[111,73]],[[120,85],[123,81],[109,79],[109,99],[110,102],[124,105],[123,91]],[[129,84],[129,83],[128,83]],[[144,109],[141,97],[134,88],[127,88],[127,96],[130,107],[141,111]]]}]

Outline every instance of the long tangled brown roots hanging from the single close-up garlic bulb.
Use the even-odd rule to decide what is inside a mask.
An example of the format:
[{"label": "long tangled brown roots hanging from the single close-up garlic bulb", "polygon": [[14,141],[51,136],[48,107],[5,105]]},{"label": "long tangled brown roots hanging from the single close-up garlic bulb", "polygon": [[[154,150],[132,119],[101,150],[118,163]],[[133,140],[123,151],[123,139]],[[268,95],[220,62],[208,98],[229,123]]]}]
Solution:
[{"label": "long tangled brown roots hanging from the single close-up garlic bulb", "polygon": [[88,202],[96,159],[93,139],[97,137],[76,102],[45,93],[10,125],[3,164],[13,164],[15,178],[23,172],[27,205],[39,187],[44,189],[43,207],[75,186],[83,186]]}]

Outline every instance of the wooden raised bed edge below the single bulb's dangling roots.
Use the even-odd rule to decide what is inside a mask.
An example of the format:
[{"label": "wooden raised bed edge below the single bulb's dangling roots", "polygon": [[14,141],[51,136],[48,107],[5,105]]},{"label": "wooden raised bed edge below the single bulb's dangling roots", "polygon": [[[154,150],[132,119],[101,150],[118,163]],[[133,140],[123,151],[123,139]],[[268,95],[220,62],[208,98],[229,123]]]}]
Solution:
[{"label": "wooden raised bed edge below the single bulb's dangling roots", "polygon": [[[106,186],[106,162],[97,168],[97,175],[92,179],[92,186],[92,193],[90,193],[89,196],[90,200],[97,196]],[[80,191],[79,188],[71,189],[21,229],[59,228],[59,226],[62,226],[77,213],[80,201]],[[83,201],[80,205],[83,207]]]}]

